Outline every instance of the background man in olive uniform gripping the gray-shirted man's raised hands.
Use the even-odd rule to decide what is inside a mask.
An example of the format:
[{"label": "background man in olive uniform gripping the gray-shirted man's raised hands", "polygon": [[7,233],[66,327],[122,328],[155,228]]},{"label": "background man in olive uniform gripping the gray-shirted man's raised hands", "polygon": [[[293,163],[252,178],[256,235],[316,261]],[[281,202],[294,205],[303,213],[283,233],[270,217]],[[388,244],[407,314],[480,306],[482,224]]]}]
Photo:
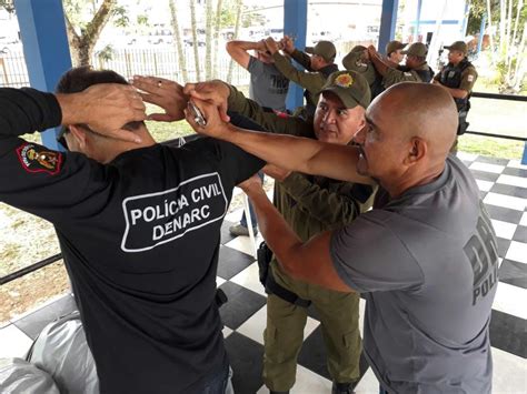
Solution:
[{"label": "background man in olive uniform gripping the gray-shirted man's raised hands", "polygon": [[[287,79],[305,89],[306,118],[312,117],[318,103],[320,89],[326,83],[328,77],[332,72],[338,71],[338,67],[334,62],[337,55],[334,43],[319,41],[315,47],[306,47],[306,52],[311,53],[311,55],[296,49],[289,37],[285,37],[280,42],[268,38],[266,47],[275,60],[275,67]],[[307,71],[296,69],[286,55],[279,52],[280,48]]]}]

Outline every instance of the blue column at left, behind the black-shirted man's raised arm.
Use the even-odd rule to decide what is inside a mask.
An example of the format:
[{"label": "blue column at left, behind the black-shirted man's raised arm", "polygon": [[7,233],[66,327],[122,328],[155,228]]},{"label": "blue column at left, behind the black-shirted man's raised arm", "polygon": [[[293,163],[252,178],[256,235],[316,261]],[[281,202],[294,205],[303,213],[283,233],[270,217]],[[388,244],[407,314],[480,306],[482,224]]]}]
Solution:
[{"label": "blue column at left, behind the black-shirted man's raised arm", "polygon": [[[17,0],[14,7],[31,87],[53,91],[60,75],[71,68],[62,1]],[[42,133],[42,143],[57,149],[57,132]]]}]

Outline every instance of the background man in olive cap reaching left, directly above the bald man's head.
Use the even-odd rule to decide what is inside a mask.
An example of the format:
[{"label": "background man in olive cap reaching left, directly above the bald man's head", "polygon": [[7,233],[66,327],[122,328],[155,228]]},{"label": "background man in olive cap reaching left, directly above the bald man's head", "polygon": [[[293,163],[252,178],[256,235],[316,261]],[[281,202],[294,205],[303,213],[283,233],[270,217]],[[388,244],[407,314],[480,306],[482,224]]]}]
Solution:
[{"label": "background man in olive cap reaching left, directly above the bald man's head", "polygon": [[405,65],[390,67],[372,46],[368,48],[369,59],[377,72],[382,75],[385,89],[399,82],[430,82],[434,71],[426,62],[427,52],[428,49],[422,42],[414,42],[407,50],[401,51],[406,54]]}]

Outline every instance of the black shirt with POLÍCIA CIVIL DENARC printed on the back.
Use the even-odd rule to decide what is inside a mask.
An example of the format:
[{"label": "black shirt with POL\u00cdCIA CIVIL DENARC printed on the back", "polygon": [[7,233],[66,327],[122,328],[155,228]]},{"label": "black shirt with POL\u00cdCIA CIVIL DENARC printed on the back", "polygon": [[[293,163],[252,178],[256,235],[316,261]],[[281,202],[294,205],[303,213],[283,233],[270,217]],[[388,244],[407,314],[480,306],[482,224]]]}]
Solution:
[{"label": "black shirt with POL\u00cdCIA CIVIL DENARC printed on the back", "polygon": [[199,391],[227,364],[221,222],[264,163],[208,138],[103,165],[14,137],[60,118],[52,95],[0,89],[0,200],[54,224],[102,393]]}]

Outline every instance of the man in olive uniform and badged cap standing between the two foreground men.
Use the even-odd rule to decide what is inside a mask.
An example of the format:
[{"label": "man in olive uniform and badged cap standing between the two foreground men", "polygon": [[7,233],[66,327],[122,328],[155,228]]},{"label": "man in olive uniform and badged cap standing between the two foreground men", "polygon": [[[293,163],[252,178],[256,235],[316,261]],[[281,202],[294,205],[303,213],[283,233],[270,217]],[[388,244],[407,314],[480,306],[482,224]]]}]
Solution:
[{"label": "man in olive uniform and badged cap standing between the two foreground men", "polygon": [[[369,104],[368,82],[354,71],[331,74],[320,89],[321,94],[312,120],[277,117],[264,112],[236,88],[222,82],[196,84],[203,98],[228,102],[229,111],[246,115],[271,132],[348,144],[365,124]],[[208,91],[211,95],[207,97]],[[294,154],[294,152],[291,153]],[[371,205],[372,189],[328,178],[287,173],[272,168],[266,171],[276,178],[275,204],[296,233],[305,241],[330,229],[350,223]],[[320,316],[327,350],[327,366],[334,381],[332,393],[352,393],[359,378],[361,340],[359,334],[359,296],[294,280],[274,259],[269,280],[292,293],[289,301],[269,294],[267,329],[264,334],[264,382],[271,393],[288,393],[296,380],[297,357],[304,341],[307,305],[312,303]],[[282,292],[280,292],[282,294]]]}]

